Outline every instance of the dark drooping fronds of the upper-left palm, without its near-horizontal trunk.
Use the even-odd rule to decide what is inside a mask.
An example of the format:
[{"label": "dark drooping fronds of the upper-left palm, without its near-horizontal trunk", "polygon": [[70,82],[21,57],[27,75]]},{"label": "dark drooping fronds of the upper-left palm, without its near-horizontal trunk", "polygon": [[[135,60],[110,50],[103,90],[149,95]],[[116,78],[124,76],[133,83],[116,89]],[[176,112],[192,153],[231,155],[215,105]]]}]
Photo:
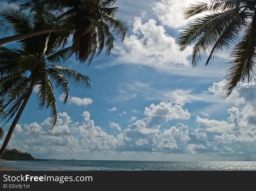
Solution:
[{"label": "dark drooping fronds of the upper-left palm, without its near-horizontal trunk", "polygon": [[[67,44],[67,39],[72,36],[72,49],[76,54],[76,58],[80,62],[91,63],[95,56],[95,50],[99,47],[97,55],[106,48],[108,56],[113,50],[113,43],[116,40],[114,35],[124,40],[129,29],[127,22],[116,19],[118,7],[112,6],[117,0],[73,0],[73,1],[53,1],[53,0],[13,0],[11,2],[20,2],[20,9],[28,9],[34,17],[47,19],[48,24],[39,26],[31,22],[31,26],[16,31],[15,34],[26,34],[29,31],[41,30],[43,28],[59,28],[60,32],[55,32],[58,36],[58,42],[62,44],[62,48]],[[11,25],[24,25],[26,14],[17,9],[3,10],[2,17],[7,18]],[[10,17],[10,18],[9,18]],[[14,20],[13,18],[18,18]],[[1,23],[0,23],[1,24]],[[97,33],[97,34],[95,34]],[[97,40],[94,36],[97,36]],[[44,35],[29,37],[34,42],[43,41]],[[41,39],[40,39],[41,38]],[[25,41],[24,41],[25,42]],[[95,46],[97,43],[99,45]],[[24,44],[29,47],[29,45]],[[30,45],[31,46],[31,45]],[[38,47],[40,48],[40,47]]]}]

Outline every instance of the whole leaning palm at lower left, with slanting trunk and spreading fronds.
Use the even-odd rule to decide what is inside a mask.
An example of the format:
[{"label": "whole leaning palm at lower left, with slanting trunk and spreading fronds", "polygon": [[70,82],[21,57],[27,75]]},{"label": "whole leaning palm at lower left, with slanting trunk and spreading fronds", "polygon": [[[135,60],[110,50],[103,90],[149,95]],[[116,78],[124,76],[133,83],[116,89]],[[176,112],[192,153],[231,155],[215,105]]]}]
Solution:
[{"label": "whole leaning palm at lower left, with slanting trunk and spreading fronds", "polygon": [[[40,14],[34,14],[33,22],[29,17],[25,17],[25,14],[22,18],[22,24],[13,25],[15,32],[24,33],[31,28],[31,31],[33,28],[40,30],[46,22]],[[59,48],[58,35],[58,33],[51,32],[23,39],[19,41],[21,49],[10,50],[0,46],[0,98],[5,100],[0,107],[0,113],[5,110],[6,114],[3,119],[6,120],[6,123],[16,114],[3,142],[0,158],[34,87],[37,89],[38,108],[50,110],[52,127],[57,120],[56,99],[52,83],[55,83],[61,93],[64,104],[67,102],[69,94],[69,82],[81,88],[90,88],[89,77],[56,65],[69,57],[71,49],[70,47]]]}]

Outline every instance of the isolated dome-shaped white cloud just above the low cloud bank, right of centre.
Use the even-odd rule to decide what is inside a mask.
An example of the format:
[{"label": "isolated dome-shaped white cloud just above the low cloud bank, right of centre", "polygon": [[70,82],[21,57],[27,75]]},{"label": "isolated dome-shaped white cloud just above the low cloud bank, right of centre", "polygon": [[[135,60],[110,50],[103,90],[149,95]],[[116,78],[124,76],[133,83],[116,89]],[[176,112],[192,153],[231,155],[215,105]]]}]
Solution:
[{"label": "isolated dome-shaped white cloud just above the low cloud bank, right of centre", "polygon": [[180,105],[173,105],[172,101],[161,102],[158,105],[152,103],[149,108],[145,108],[144,114],[148,117],[164,117],[166,120],[190,118],[188,110],[183,110]]}]

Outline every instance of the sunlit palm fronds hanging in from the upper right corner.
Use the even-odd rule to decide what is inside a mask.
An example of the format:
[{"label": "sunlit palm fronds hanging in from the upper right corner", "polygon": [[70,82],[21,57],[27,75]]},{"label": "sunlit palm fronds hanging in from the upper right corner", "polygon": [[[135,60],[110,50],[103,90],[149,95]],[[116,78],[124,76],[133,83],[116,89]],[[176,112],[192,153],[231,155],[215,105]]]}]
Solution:
[{"label": "sunlit palm fronds hanging in from the upper right corner", "polygon": [[[203,15],[203,13],[208,13]],[[209,0],[190,4],[185,19],[199,16],[185,28],[177,41],[181,51],[195,43],[193,67],[209,54],[205,66],[232,48],[232,61],[225,79],[224,97],[239,82],[252,82],[256,74],[256,0]],[[201,16],[200,16],[201,14]]]}]

